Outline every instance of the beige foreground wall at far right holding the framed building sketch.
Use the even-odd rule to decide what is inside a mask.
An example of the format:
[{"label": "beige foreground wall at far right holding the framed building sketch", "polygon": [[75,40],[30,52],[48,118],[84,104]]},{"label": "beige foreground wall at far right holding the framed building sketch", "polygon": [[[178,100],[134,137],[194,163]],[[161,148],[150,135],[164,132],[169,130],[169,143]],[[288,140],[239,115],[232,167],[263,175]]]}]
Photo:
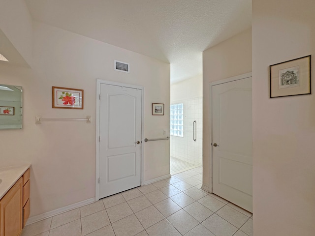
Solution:
[{"label": "beige foreground wall at far right holding the framed building sketch", "polygon": [[315,55],[314,9],[252,1],[254,236],[315,235],[315,96],[269,98],[269,65]]}]

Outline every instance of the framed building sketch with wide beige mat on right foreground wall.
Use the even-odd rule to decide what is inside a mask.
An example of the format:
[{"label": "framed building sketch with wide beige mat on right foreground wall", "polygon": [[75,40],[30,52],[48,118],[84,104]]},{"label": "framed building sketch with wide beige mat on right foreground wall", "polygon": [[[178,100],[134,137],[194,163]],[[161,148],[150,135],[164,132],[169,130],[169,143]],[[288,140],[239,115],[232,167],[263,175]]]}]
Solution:
[{"label": "framed building sketch with wide beige mat on right foreground wall", "polygon": [[270,97],[311,94],[311,55],[271,65]]}]

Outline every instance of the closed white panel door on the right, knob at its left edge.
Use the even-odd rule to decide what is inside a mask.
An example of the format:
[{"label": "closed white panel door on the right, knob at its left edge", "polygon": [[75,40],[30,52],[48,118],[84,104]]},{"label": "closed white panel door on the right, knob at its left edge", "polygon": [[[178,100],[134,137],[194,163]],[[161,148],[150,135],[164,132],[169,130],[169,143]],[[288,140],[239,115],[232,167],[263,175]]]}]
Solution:
[{"label": "closed white panel door on the right, knob at its left edge", "polygon": [[212,86],[213,193],[252,212],[252,77]]}]

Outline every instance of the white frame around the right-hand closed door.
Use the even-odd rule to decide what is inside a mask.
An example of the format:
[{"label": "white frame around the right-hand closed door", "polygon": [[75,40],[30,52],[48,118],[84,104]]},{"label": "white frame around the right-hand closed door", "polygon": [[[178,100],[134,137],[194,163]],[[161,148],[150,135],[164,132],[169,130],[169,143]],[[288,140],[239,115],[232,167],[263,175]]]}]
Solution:
[{"label": "white frame around the right-hand closed door", "polygon": [[210,132],[209,132],[210,144],[209,145],[211,146],[211,148],[209,148],[209,193],[213,193],[213,169],[212,169],[213,168],[213,156],[212,156],[213,146],[211,145],[212,144],[212,87],[215,85],[221,85],[221,84],[229,83],[236,80],[246,79],[249,77],[252,77],[252,72],[209,83],[209,105],[211,106],[211,109],[209,109],[209,114],[208,114],[209,124],[210,124],[209,125],[209,128],[210,128]]}]

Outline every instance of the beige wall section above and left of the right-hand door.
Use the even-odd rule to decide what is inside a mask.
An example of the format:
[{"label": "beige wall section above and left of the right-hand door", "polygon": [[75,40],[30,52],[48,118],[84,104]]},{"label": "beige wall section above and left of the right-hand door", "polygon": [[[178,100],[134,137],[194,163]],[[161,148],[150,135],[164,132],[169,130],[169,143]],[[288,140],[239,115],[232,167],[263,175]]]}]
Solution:
[{"label": "beige wall section above and left of the right-hand door", "polygon": [[252,71],[252,29],[203,52],[203,185],[212,191],[209,84]]}]

